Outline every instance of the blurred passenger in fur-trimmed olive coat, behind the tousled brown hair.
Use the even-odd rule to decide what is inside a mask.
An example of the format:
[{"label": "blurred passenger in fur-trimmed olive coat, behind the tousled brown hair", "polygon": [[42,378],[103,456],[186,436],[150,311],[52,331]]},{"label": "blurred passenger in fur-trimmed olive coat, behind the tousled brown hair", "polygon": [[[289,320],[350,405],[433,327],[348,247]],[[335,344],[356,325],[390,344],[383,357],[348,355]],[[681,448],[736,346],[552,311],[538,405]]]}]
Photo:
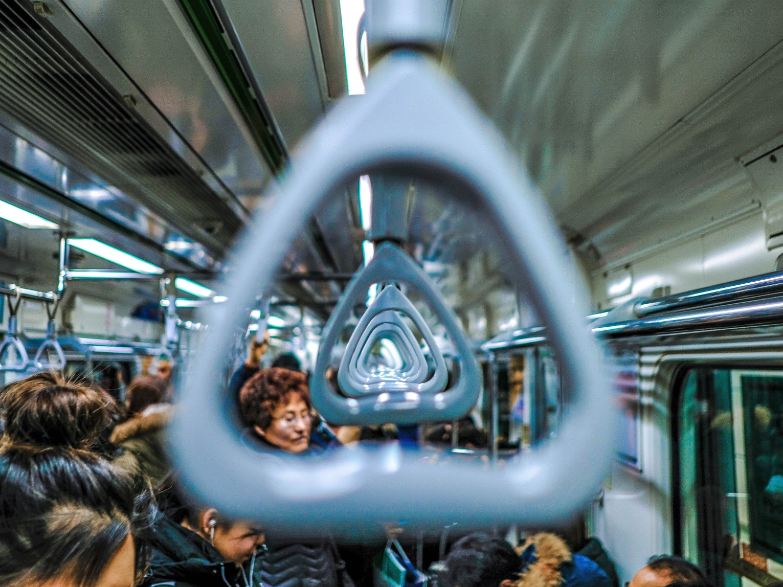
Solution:
[{"label": "blurred passenger in fur-trimmed olive coat, behind the tousled brown hair", "polygon": [[165,403],[167,393],[168,385],[161,377],[140,375],[132,380],[125,392],[125,407],[131,417],[118,424],[110,437],[136,459],[153,486],[171,470],[164,434],[173,406]]}]

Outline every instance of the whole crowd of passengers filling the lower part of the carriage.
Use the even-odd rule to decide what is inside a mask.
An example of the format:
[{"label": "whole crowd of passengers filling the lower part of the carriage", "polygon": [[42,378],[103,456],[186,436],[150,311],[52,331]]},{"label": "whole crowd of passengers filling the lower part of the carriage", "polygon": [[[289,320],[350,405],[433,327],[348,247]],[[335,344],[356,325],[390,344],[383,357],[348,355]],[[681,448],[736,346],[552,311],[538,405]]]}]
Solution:
[{"label": "whole crowd of passengers filling the lower part of the carriage", "polygon": [[[228,385],[229,409],[247,448],[305,456],[366,441],[313,411],[294,355],[262,367],[266,341],[252,340]],[[376,570],[400,528],[364,545],[333,536],[292,538],[254,520],[226,517],[179,483],[165,430],[175,412],[169,370],[137,376],[117,401],[85,378],[41,372],[0,392],[0,585],[6,587],[351,587],[377,584]],[[442,428],[446,430],[446,428]],[[396,439],[418,442],[417,427]],[[438,432],[437,434],[442,434]],[[381,438],[381,441],[387,441]],[[302,513],[306,515],[306,513]],[[404,540],[402,540],[404,542]],[[578,552],[574,552],[579,547]],[[531,529],[512,545],[503,533],[455,535],[427,575],[406,569],[402,585],[619,587],[595,538],[569,545]],[[385,583],[384,585],[388,585]],[[657,556],[631,587],[703,585],[695,565]]]}]

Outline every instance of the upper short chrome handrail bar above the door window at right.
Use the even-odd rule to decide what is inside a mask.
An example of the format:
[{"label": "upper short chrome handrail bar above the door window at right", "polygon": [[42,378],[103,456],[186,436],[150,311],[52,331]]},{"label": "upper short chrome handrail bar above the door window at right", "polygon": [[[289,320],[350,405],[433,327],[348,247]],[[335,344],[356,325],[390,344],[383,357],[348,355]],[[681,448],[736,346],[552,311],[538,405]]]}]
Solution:
[{"label": "upper short chrome handrail bar above the door window at right", "polygon": [[648,298],[634,304],[633,314],[641,318],[657,312],[707,304],[722,304],[746,297],[759,297],[768,294],[783,294],[783,272],[765,273],[749,279],[738,279],[671,296]]}]

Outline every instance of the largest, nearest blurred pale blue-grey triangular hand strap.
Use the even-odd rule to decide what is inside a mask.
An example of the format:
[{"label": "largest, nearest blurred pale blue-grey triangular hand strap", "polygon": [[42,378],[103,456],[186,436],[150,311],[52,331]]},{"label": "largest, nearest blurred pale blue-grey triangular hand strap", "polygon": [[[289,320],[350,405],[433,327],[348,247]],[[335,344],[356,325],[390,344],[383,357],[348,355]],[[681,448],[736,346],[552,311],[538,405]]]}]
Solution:
[{"label": "largest, nearest blurred pale blue-grey triangular hand strap", "polygon": [[[243,270],[227,284],[229,301],[212,308],[210,334],[181,390],[172,456],[200,502],[226,517],[320,531],[368,528],[401,517],[422,526],[546,524],[590,500],[614,452],[611,387],[586,330],[584,308],[572,299],[565,243],[517,161],[465,92],[434,64],[410,54],[386,57],[361,100],[341,101],[327,113],[301,144],[280,187],[272,186],[272,209],[258,214],[236,251]],[[226,413],[221,373],[233,325],[247,319],[245,308],[274,282],[285,255],[330,194],[359,175],[388,171],[439,182],[466,206],[486,211],[507,265],[547,326],[563,384],[575,392],[555,438],[503,468],[431,466],[393,446],[269,463],[247,450]],[[316,385],[322,378],[316,373]]]}]

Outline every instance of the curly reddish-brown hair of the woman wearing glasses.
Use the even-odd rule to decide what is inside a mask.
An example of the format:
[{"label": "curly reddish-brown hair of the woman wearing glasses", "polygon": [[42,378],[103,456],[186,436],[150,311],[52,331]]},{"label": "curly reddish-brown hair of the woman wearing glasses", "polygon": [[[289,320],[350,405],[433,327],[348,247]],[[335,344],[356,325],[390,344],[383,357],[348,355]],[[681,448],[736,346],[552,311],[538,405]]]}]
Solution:
[{"label": "curly reddish-brown hair of the woman wearing glasses", "polygon": [[310,390],[303,373],[281,367],[261,369],[242,386],[240,409],[246,426],[267,430],[272,425],[275,409],[286,402],[290,394],[298,394],[309,409]]}]

